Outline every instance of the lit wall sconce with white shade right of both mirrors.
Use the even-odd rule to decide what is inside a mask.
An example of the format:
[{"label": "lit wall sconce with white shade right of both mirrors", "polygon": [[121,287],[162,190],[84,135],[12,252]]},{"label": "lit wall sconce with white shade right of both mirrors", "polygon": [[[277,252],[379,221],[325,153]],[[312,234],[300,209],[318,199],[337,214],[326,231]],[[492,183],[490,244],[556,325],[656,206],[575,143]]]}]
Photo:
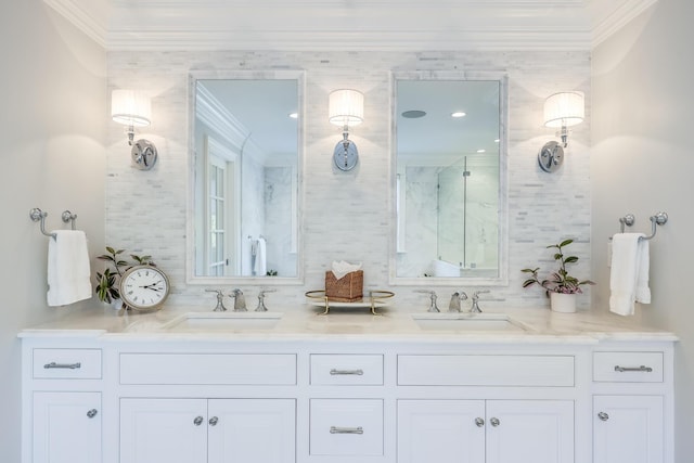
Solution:
[{"label": "lit wall sconce with white shade right of both mirrors", "polygon": [[538,163],[545,172],[553,172],[564,162],[564,149],[568,145],[569,127],[583,121],[586,106],[583,92],[554,93],[544,101],[544,126],[556,127],[562,143],[550,141],[538,153]]}]

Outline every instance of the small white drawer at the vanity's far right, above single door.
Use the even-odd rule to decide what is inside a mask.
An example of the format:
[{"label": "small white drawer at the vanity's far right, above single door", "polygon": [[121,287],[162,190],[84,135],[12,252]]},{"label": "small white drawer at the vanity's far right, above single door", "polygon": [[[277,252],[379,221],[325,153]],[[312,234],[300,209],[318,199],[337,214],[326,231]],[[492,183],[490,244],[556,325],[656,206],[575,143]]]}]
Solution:
[{"label": "small white drawer at the vanity's far right, above single door", "polygon": [[593,381],[663,383],[663,352],[593,352]]}]

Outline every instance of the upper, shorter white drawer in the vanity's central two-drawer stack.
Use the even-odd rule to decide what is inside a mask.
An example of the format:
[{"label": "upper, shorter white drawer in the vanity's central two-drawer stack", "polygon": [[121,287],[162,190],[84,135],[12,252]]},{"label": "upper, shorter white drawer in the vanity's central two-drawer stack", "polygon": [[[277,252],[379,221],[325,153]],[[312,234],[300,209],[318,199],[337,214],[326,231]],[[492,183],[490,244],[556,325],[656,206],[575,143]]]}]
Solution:
[{"label": "upper, shorter white drawer in the vanity's central two-drawer stack", "polygon": [[313,385],[382,385],[383,356],[311,355]]}]

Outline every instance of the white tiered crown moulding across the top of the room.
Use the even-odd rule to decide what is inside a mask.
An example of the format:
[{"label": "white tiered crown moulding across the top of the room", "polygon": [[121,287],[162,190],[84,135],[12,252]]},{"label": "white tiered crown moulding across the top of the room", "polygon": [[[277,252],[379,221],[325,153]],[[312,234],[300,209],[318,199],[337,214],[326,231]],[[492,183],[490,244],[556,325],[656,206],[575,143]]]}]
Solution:
[{"label": "white tiered crown moulding across the top of the room", "polygon": [[43,0],[107,50],[589,50],[657,0]]}]

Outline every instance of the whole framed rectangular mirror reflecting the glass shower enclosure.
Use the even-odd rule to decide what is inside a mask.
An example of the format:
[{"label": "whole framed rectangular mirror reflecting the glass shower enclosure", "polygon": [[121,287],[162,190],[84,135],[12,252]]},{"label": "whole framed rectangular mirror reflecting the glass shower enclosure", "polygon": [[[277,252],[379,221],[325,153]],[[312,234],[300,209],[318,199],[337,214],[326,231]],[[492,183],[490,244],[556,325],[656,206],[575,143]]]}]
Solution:
[{"label": "whole framed rectangular mirror reflecting the glass shower enclosure", "polygon": [[506,82],[394,75],[394,284],[506,284]]}]

